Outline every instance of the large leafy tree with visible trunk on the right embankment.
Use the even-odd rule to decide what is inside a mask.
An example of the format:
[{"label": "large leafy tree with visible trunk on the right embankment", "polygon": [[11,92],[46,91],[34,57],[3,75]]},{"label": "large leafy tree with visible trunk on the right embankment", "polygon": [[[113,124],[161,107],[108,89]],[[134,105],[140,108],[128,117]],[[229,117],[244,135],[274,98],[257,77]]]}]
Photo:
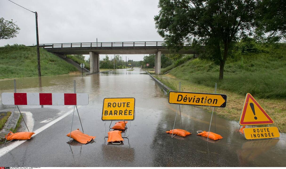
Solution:
[{"label": "large leafy tree with visible trunk on the right embankment", "polygon": [[233,42],[256,28],[255,0],[160,0],[158,7],[155,25],[166,45],[179,50],[182,41],[203,41],[200,57],[220,66],[219,79]]}]

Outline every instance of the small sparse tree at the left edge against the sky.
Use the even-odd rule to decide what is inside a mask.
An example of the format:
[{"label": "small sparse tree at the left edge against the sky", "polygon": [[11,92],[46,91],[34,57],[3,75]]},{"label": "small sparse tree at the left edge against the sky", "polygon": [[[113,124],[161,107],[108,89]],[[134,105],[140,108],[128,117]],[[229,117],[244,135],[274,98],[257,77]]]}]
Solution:
[{"label": "small sparse tree at the left edge against the sky", "polygon": [[10,39],[16,37],[20,28],[11,21],[6,21],[4,18],[0,18],[0,39]]}]

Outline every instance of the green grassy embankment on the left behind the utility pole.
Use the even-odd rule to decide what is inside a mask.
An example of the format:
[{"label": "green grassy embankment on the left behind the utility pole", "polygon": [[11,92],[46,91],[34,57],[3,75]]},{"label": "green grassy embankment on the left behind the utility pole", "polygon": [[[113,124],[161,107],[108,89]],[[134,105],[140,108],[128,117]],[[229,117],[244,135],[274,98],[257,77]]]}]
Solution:
[{"label": "green grassy embankment on the left behind the utility pole", "polygon": [[[40,48],[42,76],[78,71],[72,64]],[[24,45],[0,47],[0,79],[38,76],[37,48]]]}]

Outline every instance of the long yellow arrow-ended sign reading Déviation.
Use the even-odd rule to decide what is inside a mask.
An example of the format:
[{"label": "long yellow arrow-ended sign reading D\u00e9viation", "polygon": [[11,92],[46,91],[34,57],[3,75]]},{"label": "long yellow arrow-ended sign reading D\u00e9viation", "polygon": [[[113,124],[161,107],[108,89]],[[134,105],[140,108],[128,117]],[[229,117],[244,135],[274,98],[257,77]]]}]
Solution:
[{"label": "long yellow arrow-ended sign reading D\u00e9viation", "polygon": [[196,106],[225,107],[227,105],[227,95],[170,91],[169,103]]}]

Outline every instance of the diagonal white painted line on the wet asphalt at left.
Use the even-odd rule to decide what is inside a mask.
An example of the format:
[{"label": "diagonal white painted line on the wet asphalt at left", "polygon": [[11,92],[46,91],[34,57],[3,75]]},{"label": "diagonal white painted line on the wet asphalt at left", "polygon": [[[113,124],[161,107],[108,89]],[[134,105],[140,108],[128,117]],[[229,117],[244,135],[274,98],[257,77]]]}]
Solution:
[{"label": "diagonal white painted line on the wet asphalt at left", "polygon": [[[80,106],[78,106],[80,107]],[[48,127],[50,127],[51,125],[57,123],[58,121],[60,121],[61,119],[67,117],[67,115],[71,114],[74,111],[74,109],[68,111],[67,113],[63,114],[62,116],[56,118],[55,120],[47,123],[46,125],[40,127],[39,129],[34,131],[34,135],[32,135],[32,137],[34,137],[35,135],[41,133],[43,130],[47,129]],[[13,150],[14,148],[16,148],[17,146],[21,145],[23,142],[25,142],[27,140],[18,140],[13,142],[12,144],[10,144],[9,146],[3,147],[0,149],[0,157],[2,157],[3,155],[5,155],[7,152],[10,152],[11,150]]]}]

